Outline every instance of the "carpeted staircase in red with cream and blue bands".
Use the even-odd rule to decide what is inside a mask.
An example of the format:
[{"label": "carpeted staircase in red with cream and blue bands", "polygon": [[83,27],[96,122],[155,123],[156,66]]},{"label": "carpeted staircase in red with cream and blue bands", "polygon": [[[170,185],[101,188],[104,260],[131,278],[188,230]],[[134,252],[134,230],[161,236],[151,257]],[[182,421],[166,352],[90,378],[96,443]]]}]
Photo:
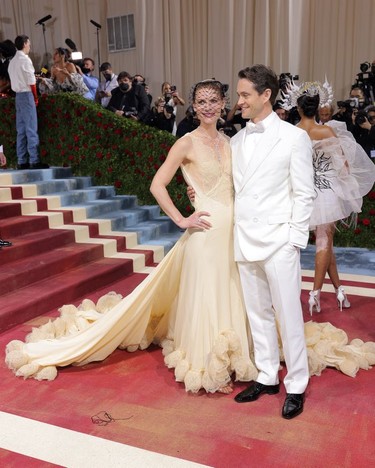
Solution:
[{"label": "carpeted staircase in red with cream and blue bands", "polygon": [[[85,296],[129,292],[180,236],[157,206],[72,177],[0,173],[0,332]],[[146,244],[147,242],[147,244]]]}]

